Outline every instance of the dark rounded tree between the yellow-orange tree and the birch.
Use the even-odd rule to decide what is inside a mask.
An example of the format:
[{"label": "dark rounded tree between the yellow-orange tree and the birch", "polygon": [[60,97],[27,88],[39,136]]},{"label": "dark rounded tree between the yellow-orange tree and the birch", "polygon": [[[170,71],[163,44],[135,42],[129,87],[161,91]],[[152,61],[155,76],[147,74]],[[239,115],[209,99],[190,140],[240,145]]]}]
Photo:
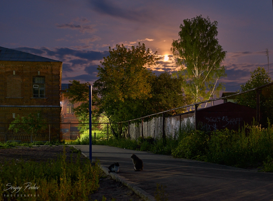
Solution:
[{"label": "dark rounded tree between the yellow-orange tree and the birch", "polygon": [[[163,112],[187,105],[187,97],[183,95],[182,81],[168,72],[155,77],[152,84],[152,97],[149,100],[151,113]],[[179,114],[186,110],[180,109],[169,112],[170,115]]]}]

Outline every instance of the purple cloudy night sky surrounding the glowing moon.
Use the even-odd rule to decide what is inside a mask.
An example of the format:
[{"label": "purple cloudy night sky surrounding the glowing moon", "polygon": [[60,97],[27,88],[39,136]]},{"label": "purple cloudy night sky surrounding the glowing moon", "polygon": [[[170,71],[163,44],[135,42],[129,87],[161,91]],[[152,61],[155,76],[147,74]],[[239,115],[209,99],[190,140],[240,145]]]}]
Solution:
[{"label": "purple cloudy night sky surrounding the glowing moon", "polygon": [[218,22],[217,38],[227,51],[227,77],[220,81],[233,92],[258,66],[268,71],[266,48],[269,73],[273,71],[272,8],[272,0],[2,0],[0,46],[62,61],[62,83],[93,83],[109,46],[129,48],[140,42],[158,51],[161,60],[152,69],[158,75],[180,68],[170,48],[183,20],[208,16]]}]

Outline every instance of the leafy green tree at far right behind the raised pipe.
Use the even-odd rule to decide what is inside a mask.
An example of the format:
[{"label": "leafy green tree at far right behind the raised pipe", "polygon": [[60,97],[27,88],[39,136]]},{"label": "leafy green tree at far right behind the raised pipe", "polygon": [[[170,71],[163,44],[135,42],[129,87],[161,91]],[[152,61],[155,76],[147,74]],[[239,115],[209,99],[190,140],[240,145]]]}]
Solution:
[{"label": "leafy green tree at far right behind the raised pipe", "polygon": [[[262,67],[256,68],[251,73],[250,80],[247,81],[245,85],[241,85],[241,91],[247,91],[253,89],[255,87],[259,87],[272,82],[271,77],[268,76],[265,69]],[[273,86],[269,86],[262,89],[262,93],[260,94],[260,112],[261,112],[261,124],[263,126],[267,125],[267,118],[269,118],[270,122],[273,122]],[[238,104],[245,105],[251,108],[256,108],[256,91],[251,91],[245,94],[241,94],[236,96],[234,99]]]}]

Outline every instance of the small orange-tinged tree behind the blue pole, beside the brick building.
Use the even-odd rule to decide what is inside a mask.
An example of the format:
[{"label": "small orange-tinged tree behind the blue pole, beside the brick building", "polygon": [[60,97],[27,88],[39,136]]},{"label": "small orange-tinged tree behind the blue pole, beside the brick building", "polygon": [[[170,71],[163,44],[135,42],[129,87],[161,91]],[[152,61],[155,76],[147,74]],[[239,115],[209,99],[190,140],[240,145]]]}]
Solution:
[{"label": "small orange-tinged tree behind the blue pole, beside the brick building", "polygon": [[[72,104],[82,102],[81,105],[73,108],[73,110],[75,116],[79,119],[79,133],[84,133],[84,131],[89,129],[89,86],[91,84],[89,82],[80,83],[76,80],[69,82],[72,83],[72,85],[64,92],[64,96],[66,96]],[[96,114],[96,109],[94,107],[92,107],[92,114],[93,113]],[[92,122],[98,122],[96,115],[92,115]],[[92,124],[92,128],[95,128],[96,126],[96,124]]]}]

